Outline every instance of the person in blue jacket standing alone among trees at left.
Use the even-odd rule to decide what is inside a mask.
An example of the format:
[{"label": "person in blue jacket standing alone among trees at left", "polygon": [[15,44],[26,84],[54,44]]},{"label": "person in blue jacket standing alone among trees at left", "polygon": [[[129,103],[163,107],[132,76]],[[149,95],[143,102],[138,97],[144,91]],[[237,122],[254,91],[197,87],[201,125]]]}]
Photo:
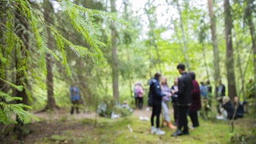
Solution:
[{"label": "person in blue jacket standing alone among trees at left", "polygon": [[75,84],[72,84],[69,88],[70,100],[72,103],[70,114],[73,115],[74,109],[76,108],[76,113],[79,114],[78,100],[79,100],[79,89]]}]

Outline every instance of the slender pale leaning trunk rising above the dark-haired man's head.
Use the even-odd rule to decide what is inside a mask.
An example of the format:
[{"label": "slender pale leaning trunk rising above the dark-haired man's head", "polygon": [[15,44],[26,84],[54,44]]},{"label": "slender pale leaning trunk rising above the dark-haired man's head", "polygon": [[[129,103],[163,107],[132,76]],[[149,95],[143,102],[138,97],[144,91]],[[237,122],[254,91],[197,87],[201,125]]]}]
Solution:
[{"label": "slender pale leaning trunk rising above the dark-haired man's head", "polygon": [[177,2],[177,7],[178,7],[178,11],[179,11],[179,16],[180,16],[180,28],[181,28],[181,33],[182,33],[182,39],[183,39],[183,44],[184,44],[184,49],[183,49],[183,53],[185,55],[185,64],[187,66],[188,71],[190,70],[190,66],[189,66],[189,60],[188,60],[188,52],[187,52],[187,39],[186,39],[186,35],[185,35],[185,31],[184,31],[184,26],[183,26],[183,21],[182,21],[182,15],[181,15],[181,10],[180,10],[180,5],[178,0]]}]

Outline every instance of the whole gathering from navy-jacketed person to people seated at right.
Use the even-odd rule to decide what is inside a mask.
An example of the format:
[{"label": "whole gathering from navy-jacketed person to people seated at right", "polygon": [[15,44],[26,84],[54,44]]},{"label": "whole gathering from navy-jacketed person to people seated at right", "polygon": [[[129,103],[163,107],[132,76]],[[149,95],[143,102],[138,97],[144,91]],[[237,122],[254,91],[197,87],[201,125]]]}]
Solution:
[{"label": "whole gathering from navy-jacketed person to people seated at right", "polygon": [[[165,134],[165,132],[159,128],[161,110],[163,110],[162,124],[167,124],[171,129],[176,129],[175,125],[178,126],[177,130],[171,136],[188,135],[187,115],[190,117],[193,124],[191,128],[194,129],[194,127],[198,127],[198,111],[202,108],[201,99],[203,103],[207,103],[207,105],[209,105],[209,101],[211,100],[212,87],[209,81],[201,83],[199,86],[196,81],[195,73],[188,73],[185,69],[185,65],[180,63],[177,69],[181,77],[175,78],[174,85],[171,89],[169,89],[167,85],[167,79],[165,77],[161,78],[160,73],[156,73],[154,78],[151,78],[148,83],[148,105],[153,108],[151,115],[151,133],[153,134]],[[221,81],[219,86],[217,86],[217,92],[217,98],[221,100],[218,106],[219,114],[225,111],[227,118],[231,119],[235,113],[235,108],[237,108],[236,114],[234,115],[235,118],[243,116],[243,103],[239,102],[238,97],[235,98],[234,103],[231,103],[229,97],[225,96],[225,85],[223,85]],[[174,124],[171,123],[167,105],[170,99],[173,104]],[[156,121],[154,121],[155,117]]]}]

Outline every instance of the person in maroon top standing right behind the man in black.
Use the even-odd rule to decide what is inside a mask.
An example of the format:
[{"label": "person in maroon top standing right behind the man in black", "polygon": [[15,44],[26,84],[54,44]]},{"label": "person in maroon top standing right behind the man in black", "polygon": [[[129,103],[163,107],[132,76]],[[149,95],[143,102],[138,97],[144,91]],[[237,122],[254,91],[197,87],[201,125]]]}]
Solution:
[{"label": "person in maroon top standing right behind the man in black", "polygon": [[196,75],[194,72],[189,72],[193,84],[193,95],[192,95],[192,105],[189,107],[188,115],[191,118],[193,129],[199,126],[197,111],[201,109],[201,97],[199,85],[196,81]]}]

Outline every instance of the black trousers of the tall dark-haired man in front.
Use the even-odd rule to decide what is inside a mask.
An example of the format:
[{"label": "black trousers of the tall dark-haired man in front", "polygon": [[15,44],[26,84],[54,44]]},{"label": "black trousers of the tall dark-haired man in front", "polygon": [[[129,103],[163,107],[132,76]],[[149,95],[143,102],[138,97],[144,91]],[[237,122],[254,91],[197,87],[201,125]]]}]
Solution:
[{"label": "black trousers of the tall dark-haired man in front", "polygon": [[178,106],[179,108],[179,121],[178,129],[181,130],[183,127],[183,132],[188,132],[188,106]]}]

